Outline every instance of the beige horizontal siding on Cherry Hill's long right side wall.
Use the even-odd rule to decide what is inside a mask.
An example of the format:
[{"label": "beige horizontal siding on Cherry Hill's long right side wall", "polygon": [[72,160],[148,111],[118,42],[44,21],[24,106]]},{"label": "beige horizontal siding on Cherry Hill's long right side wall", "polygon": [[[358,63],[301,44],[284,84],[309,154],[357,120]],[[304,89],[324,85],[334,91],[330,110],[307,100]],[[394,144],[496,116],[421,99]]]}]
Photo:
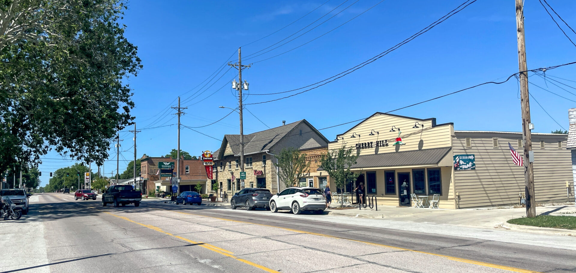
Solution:
[{"label": "beige horizontal siding on Cherry Hill's long right side wall", "polygon": [[[476,162],[476,170],[454,171],[459,207],[516,205],[518,193],[524,192],[524,167],[513,164],[507,144],[523,156],[524,151],[517,148],[521,133],[454,134],[453,154],[473,154]],[[467,137],[471,137],[472,148],[466,148]],[[499,148],[493,148],[494,137],[498,137]],[[540,141],[544,141],[545,149],[540,149]],[[566,145],[566,136],[533,134],[537,203],[566,201],[566,181],[572,180],[572,163],[570,151],[558,149],[558,141]]]}]

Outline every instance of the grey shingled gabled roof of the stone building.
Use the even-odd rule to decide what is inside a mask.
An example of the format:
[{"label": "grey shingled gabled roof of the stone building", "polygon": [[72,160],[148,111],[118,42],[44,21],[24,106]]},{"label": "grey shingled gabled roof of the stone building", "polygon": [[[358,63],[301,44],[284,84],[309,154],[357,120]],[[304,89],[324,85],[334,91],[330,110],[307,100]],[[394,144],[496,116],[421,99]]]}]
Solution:
[{"label": "grey shingled gabled roof of the stone building", "polygon": [[[244,154],[249,155],[251,153],[263,152],[263,151],[270,151],[278,141],[282,140],[283,137],[289,136],[291,130],[296,128],[300,124],[306,124],[310,129],[311,132],[318,134],[326,143],[328,143],[328,139],[323,136],[312,124],[310,124],[306,120],[300,120],[297,122],[292,122],[290,124],[282,125],[276,128],[263,130],[256,133],[245,134],[244,135]],[[308,132],[306,132],[308,133]],[[218,149],[219,153],[217,154],[218,159],[222,159],[223,153],[226,151],[227,145],[230,145],[232,148],[232,152],[234,155],[240,155],[240,134],[225,134],[224,139],[222,140],[222,145],[220,149]],[[296,147],[298,148],[298,147]],[[216,153],[214,153],[216,155]]]}]

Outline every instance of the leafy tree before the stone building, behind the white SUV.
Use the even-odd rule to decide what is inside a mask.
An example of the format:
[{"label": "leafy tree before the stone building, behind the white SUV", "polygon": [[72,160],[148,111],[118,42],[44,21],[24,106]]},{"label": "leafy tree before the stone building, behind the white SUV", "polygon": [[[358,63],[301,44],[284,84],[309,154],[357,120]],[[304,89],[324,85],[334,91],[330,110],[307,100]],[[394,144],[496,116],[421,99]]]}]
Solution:
[{"label": "leafy tree before the stone building, behind the white SUV", "polygon": [[306,154],[293,147],[282,148],[277,158],[278,163],[274,165],[279,168],[278,175],[286,187],[293,187],[303,174],[309,172],[310,162],[306,160]]}]

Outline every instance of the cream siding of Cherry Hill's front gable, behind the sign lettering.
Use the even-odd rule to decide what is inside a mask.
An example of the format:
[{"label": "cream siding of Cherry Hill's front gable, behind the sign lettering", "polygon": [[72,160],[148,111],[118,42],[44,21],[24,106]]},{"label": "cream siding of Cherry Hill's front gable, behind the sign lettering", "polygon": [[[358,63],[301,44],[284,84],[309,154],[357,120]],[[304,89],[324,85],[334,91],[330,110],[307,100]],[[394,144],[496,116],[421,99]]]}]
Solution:
[{"label": "cream siding of Cherry Hill's front gable, behind the sign lettering", "polygon": [[[430,149],[440,147],[450,147],[452,125],[440,125],[433,127],[432,121],[419,121],[423,124],[419,128],[412,128],[416,120],[403,117],[388,116],[385,114],[377,114],[355,126],[350,132],[342,134],[339,137],[344,137],[344,140],[328,144],[328,149],[338,149],[342,147],[344,141],[347,147],[355,147],[357,143],[369,143],[372,141],[376,143],[378,140],[388,140],[388,147],[374,147],[369,149],[358,149],[358,155],[374,155],[375,153],[388,153],[398,151],[412,151],[418,149]],[[400,137],[405,145],[392,145],[395,143],[398,136],[398,130],[390,132],[392,126],[401,129]],[[379,132],[374,133],[374,136],[369,136],[371,130]],[[351,137],[353,133],[360,134],[358,137]],[[422,141],[422,143],[420,143]]]}]

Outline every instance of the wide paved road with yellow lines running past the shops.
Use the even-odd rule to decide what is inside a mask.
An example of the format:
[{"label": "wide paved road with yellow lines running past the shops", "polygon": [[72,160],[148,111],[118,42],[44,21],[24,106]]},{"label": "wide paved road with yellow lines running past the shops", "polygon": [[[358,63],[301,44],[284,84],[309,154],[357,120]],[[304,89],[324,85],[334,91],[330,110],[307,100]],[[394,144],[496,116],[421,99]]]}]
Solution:
[{"label": "wide paved road with yellow lines running past the shops", "polygon": [[352,217],[158,201],[103,207],[62,193],[33,195],[31,204],[28,216],[0,220],[0,273],[576,271],[570,248],[376,228]]}]

